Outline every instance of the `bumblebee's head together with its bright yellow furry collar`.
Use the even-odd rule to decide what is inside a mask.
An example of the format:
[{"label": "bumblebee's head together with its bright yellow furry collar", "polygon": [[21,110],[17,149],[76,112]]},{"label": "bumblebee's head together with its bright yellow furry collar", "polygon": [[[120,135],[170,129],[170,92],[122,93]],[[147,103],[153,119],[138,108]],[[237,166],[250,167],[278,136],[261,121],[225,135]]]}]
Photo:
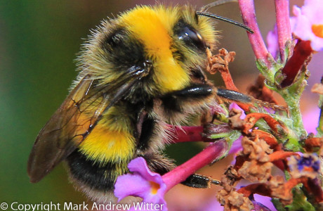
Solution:
[{"label": "bumblebee's head together with its bright yellow furry collar", "polygon": [[190,84],[191,70],[204,65],[206,48],[216,44],[213,23],[190,6],[138,6],[117,20],[152,63],[147,90],[160,94]]}]

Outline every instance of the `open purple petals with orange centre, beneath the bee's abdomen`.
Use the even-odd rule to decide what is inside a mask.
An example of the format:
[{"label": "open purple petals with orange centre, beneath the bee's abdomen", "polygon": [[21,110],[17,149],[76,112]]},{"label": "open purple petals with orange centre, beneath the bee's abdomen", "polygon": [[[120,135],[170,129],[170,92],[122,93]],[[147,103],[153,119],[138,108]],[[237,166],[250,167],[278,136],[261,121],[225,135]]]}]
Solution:
[{"label": "open purple petals with orange centre, beneath the bee's abdomen", "polygon": [[[151,172],[144,158],[131,160],[128,169],[132,174],[119,176],[114,186],[114,195],[119,198],[119,201],[126,196],[138,196],[143,198],[143,204],[159,204],[160,210],[167,210],[164,200],[166,184],[162,176]],[[145,205],[140,210],[145,210]]]}]

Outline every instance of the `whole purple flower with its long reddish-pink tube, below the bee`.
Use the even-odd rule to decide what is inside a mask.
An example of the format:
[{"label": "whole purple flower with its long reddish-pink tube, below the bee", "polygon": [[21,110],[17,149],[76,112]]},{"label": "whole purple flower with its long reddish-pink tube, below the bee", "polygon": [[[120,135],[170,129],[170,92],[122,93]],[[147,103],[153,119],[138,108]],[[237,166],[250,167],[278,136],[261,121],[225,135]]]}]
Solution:
[{"label": "whole purple flower with its long reddish-pink tube, below the bee", "polygon": [[185,181],[187,177],[204,167],[204,165],[221,158],[226,151],[228,151],[226,141],[211,143],[204,151],[171,172],[164,174],[163,177],[160,174],[151,172],[144,158],[135,158],[128,164],[128,169],[132,174],[124,174],[117,178],[114,185],[114,195],[119,201],[126,196],[137,196],[143,198],[142,203],[159,204],[162,208],[161,210],[165,211],[167,207],[164,195],[169,189]]}]

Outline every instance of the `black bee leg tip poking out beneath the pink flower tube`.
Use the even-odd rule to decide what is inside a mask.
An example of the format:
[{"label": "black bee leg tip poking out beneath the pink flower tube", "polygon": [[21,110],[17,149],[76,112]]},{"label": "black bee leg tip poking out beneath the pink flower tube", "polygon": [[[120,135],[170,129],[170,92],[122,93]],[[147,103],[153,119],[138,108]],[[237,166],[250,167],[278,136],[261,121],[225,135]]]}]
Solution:
[{"label": "black bee leg tip poking out beneath the pink flower tube", "polygon": [[219,185],[220,181],[202,174],[192,174],[182,184],[192,188],[210,188],[211,184]]}]

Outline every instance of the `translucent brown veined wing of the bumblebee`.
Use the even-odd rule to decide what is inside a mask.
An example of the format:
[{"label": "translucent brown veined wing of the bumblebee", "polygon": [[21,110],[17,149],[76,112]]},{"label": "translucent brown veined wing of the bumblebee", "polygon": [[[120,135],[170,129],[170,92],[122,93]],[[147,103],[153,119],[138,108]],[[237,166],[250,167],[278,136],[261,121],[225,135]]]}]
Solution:
[{"label": "translucent brown veined wing of the bumblebee", "polygon": [[79,82],[41,129],[29,155],[30,181],[40,181],[84,141],[101,114],[125,96],[146,72],[133,66],[113,84],[95,86],[89,76]]}]

